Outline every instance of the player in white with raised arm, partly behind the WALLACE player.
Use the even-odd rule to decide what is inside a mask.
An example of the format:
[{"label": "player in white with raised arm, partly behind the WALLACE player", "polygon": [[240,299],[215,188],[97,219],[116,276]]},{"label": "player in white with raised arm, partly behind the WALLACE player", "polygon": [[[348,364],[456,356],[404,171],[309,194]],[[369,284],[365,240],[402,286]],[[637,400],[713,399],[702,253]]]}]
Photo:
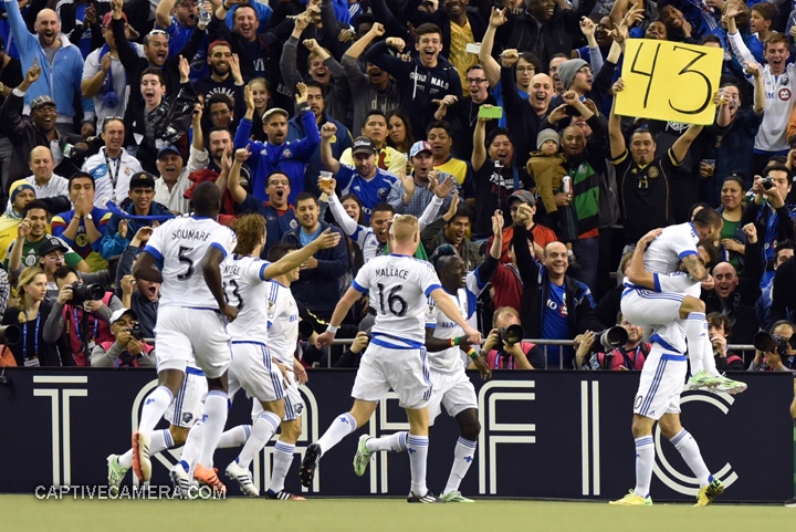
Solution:
[{"label": "player in white with raised arm, partly behind the WALLACE player", "polygon": [[[500,263],[503,247],[503,215],[500,210],[495,211],[492,217],[492,232],[494,239],[490,252],[483,264],[472,272],[467,271],[467,264],[452,246],[440,246],[434,251],[436,257],[431,258],[448,298],[455,303],[461,315],[468,321],[474,319],[478,298],[489,284]],[[430,307],[426,321],[426,348],[431,353],[429,365],[434,388],[428,406],[429,425],[433,425],[444,405],[448,415],[455,418],[460,430],[459,440],[453,450],[453,467],[448,477],[448,483],[440,494],[440,500],[444,502],[473,502],[472,499],[463,497],[459,491],[459,486],[474,458],[478,436],[481,432],[478,397],[475,388],[464,372],[462,350],[467,347],[470,358],[484,379],[491,375],[483,358],[478,356],[475,350],[467,345],[467,337],[463,334],[461,327],[440,314],[434,305]],[[381,438],[373,438],[369,435],[360,436],[354,457],[354,471],[359,477],[365,474],[370,457],[375,452],[406,450],[407,436],[406,431]]]}]

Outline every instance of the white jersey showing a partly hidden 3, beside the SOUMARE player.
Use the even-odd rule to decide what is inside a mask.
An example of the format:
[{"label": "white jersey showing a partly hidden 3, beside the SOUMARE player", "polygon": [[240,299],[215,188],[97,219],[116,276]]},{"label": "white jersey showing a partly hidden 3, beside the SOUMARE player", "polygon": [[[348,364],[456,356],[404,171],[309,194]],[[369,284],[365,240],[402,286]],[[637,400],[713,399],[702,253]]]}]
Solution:
[{"label": "white jersey showing a partly hidden 3, beside the SOUMARE player", "polygon": [[268,345],[268,293],[265,268],[270,264],[254,257],[231,254],[221,263],[224,295],[238,316],[228,325],[230,337]]}]

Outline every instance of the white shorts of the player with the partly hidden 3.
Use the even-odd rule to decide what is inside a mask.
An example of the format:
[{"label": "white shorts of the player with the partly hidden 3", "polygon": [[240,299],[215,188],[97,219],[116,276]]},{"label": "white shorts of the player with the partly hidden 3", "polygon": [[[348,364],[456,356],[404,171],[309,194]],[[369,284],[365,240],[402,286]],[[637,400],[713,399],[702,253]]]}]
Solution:
[{"label": "white shorts of the player with the partly hidden 3", "polygon": [[284,397],[282,372],[271,362],[271,353],[259,342],[232,342],[229,396],[243,388],[249,397],[270,403]]}]

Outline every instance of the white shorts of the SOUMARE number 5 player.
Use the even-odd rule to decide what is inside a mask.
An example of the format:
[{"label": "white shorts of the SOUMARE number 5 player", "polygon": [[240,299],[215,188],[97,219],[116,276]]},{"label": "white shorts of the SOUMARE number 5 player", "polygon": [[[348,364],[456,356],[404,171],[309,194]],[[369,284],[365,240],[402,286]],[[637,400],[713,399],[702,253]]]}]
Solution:
[{"label": "white shorts of the SOUMARE number 5 player", "polygon": [[185,372],[191,354],[208,378],[229,368],[227,319],[220,312],[186,306],[161,306],[155,326],[158,372]]}]

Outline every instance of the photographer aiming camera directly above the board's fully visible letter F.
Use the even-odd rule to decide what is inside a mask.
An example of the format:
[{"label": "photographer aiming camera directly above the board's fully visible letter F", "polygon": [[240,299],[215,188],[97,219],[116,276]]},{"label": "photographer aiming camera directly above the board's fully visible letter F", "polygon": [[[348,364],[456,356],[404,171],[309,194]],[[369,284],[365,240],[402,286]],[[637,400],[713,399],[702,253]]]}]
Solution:
[{"label": "photographer aiming camera directly above the board's fully visible letter F", "polygon": [[[544,369],[545,354],[538,345],[523,342],[520,313],[511,306],[498,309],[492,317],[492,331],[481,347],[491,369]],[[470,364],[468,369],[478,369]]]}]

